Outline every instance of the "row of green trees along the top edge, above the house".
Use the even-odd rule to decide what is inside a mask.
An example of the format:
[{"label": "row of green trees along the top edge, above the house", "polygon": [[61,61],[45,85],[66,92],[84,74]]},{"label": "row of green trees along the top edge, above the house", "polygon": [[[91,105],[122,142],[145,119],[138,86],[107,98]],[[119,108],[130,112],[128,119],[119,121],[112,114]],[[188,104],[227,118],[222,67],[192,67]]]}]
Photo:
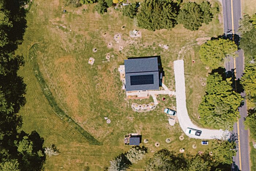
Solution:
[{"label": "row of green trees along the top edge, above the house", "polygon": [[[123,0],[65,0],[65,2],[66,5],[73,6],[97,3],[94,7],[95,11],[104,14],[109,7],[117,3],[121,4]],[[189,30],[198,30],[203,23],[211,22],[219,11],[218,5],[212,5],[208,1],[200,4],[181,2],[180,0],[144,0],[141,4],[138,2],[127,4],[121,11],[124,16],[135,18],[139,27],[151,31],[163,28],[170,30],[177,23],[183,24]]]}]

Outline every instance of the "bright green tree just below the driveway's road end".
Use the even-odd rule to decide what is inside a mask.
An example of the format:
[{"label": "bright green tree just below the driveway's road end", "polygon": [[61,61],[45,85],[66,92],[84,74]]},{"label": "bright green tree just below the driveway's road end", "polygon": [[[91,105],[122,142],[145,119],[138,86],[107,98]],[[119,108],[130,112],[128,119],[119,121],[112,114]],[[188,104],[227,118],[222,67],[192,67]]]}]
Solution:
[{"label": "bright green tree just below the driveway's road end", "polygon": [[236,156],[236,142],[235,141],[223,141],[215,140],[212,142],[212,154],[214,160],[222,164],[231,164],[232,156]]}]

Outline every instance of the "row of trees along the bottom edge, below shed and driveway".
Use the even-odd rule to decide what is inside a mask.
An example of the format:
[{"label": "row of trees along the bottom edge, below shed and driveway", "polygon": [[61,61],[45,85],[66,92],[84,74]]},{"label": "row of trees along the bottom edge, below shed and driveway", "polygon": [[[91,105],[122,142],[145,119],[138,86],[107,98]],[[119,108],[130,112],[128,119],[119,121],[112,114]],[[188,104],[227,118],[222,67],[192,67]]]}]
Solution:
[{"label": "row of trees along the bottom edge, below shed and driveway", "polygon": [[[210,149],[205,152],[192,155],[190,153],[176,153],[161,149],[146,161],[146,171],[225,171],[230,168],[232,156],[236,155],[236,143],[234,141],[214,140]],[[147,148],[134,146],[126,153],[121,153],[110,161],[108,171],[125,171],[142,160],[147,154]]]}]

